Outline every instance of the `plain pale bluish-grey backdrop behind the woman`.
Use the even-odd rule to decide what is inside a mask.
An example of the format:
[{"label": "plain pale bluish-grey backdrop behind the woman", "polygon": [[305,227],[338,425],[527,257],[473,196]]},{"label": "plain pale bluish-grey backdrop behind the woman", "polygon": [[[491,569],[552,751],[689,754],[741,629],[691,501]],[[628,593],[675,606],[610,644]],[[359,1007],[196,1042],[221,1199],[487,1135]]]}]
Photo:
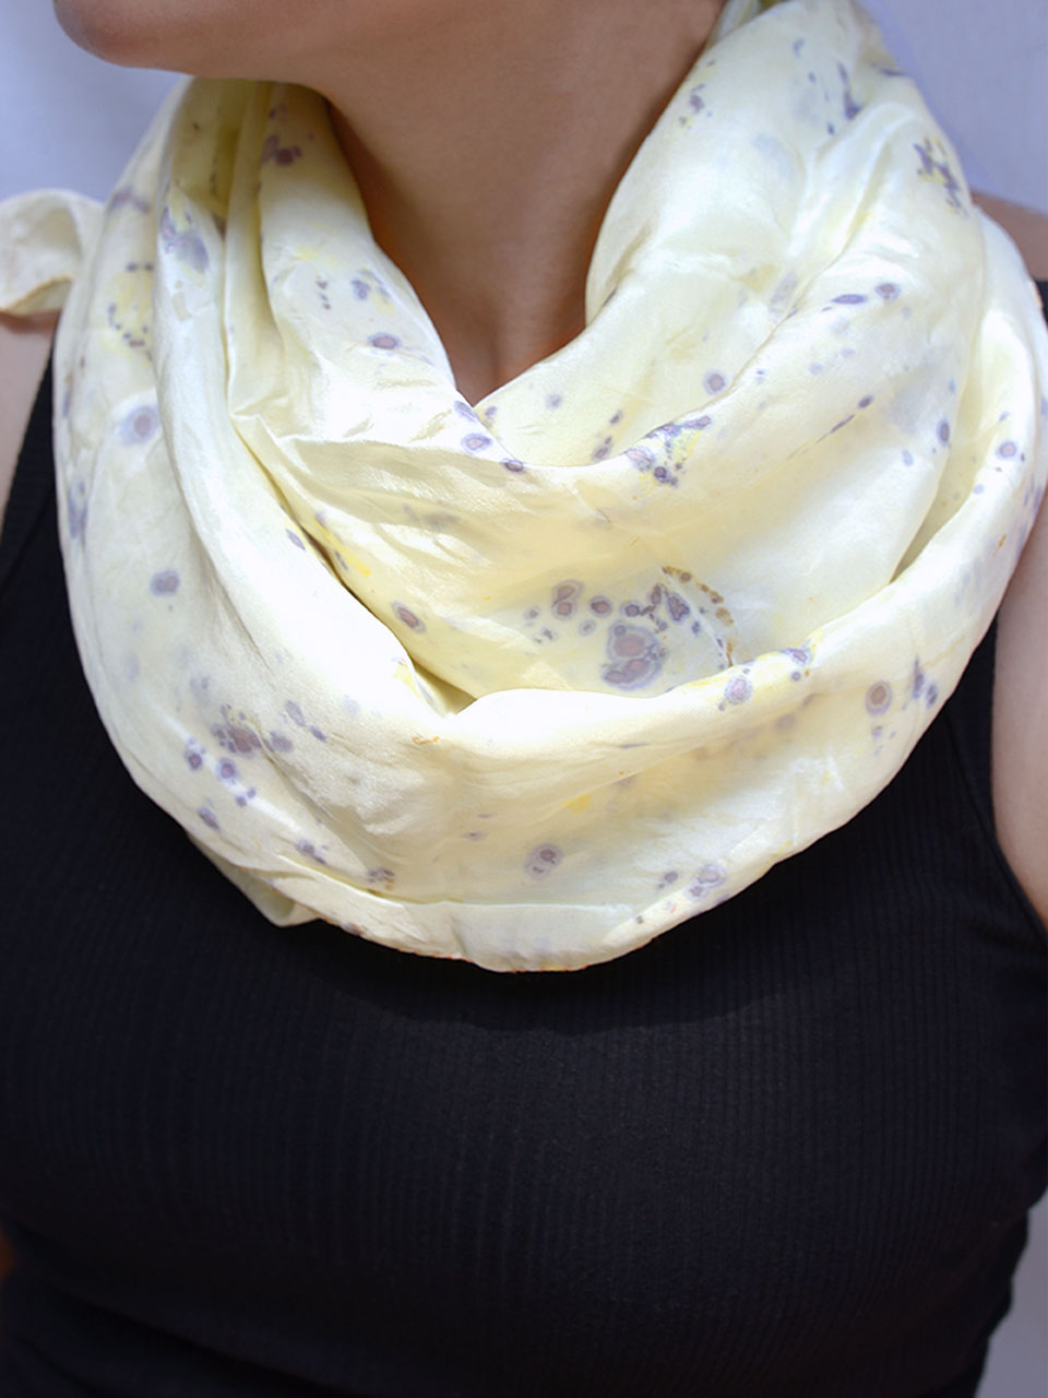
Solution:
[{"label": "plain pale bluish-grey backdrop behind the woman", "polygon": [[[866,8],[952,136],[973,187],[1048,212],[1048,0],[868,0]],[[172,81],[81,53],[46,0],[0,0],[0,199],[48,185],[103,199]],[[980,1398],[1045,1398],[1047,1297],[1042,1204]]]}]

